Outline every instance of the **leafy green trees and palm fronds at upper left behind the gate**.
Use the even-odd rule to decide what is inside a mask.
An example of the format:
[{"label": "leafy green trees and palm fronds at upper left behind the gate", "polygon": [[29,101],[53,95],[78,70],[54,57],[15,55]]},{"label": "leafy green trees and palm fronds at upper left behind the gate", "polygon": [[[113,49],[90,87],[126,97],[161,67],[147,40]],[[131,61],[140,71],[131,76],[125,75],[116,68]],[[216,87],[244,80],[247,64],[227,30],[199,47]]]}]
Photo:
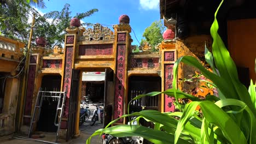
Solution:
[{"label": "leafy green trees and palm fronds at upper left behind the gate", "polygon": [[[39,8],[45,8],[43,1],[18,0],[10,2],[0,0],[0,4],[0,30],[7,37],[20,39],[27,44],[31,28],[31,23],[28,23],[28,19],[32,13],[35,13],[36,21],[34,26],[36,26],[36,30],[33,31],[32,42],[35,42],[38,37],[44,37],[46,46],[50,48],[55,45],[61,46],[64,43],[65,34],[67,33],[66,28],[69,27],[69,22],[72,19],[72,11],[69,10],[69,4],[65,4],[61,11],[51,11],[44,15],[40,15],[31,6],[36,4]],[[97,11],[98,9],[91,9],[84,13],[77,13],[75,17],[83,20]],[[91,23],[82,23],[82,25],[87,26],[91,25]]]}]

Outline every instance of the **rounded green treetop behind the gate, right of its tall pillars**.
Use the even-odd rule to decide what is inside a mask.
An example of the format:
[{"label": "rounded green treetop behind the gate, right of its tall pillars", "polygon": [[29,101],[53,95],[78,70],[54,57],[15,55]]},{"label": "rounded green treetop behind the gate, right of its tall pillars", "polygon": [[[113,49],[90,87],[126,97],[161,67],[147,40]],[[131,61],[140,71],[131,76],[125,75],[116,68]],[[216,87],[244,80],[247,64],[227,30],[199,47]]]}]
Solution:
[{"label": "rounded green treetop behind the gate, right of its tall pillars", "polygon": [[164,33],[165,27],[162,25],[162,21],[154,21],[149,27],[147,27],[142,35],[141,45],[148,43],[153,49],[156,45],[161,43],[162,33]]}]

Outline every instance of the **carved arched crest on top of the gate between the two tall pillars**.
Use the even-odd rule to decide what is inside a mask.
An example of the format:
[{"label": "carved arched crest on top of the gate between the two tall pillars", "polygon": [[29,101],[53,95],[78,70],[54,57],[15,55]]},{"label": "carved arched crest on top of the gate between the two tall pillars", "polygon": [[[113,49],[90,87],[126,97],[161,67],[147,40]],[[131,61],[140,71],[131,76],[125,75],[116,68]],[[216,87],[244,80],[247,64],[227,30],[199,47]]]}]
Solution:
[{"label": "carved arched crest on top of the gate between the two tall pillars", "polygon": [[108,28],[96,23],[94,28],[88,28],[80,37],[80,41],[114,40],[114,33]]}]

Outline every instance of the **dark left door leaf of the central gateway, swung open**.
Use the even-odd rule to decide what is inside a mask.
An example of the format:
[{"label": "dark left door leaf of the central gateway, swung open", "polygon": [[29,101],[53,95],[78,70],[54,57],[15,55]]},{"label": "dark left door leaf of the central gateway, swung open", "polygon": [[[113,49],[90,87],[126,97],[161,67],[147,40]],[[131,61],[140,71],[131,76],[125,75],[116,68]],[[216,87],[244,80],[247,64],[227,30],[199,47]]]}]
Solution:
[{"label": "dark left door leaf of the central gateway, swung open", "polygon": [[75,129],[75,117],[77,115],[77,100],[79,92],[79,76],[80,70],[72,70],[72,82],[71,82],[71,93],[69,98],[69,111],[68,111],[68,125],[66,141],[70,140],[74,136]]}]

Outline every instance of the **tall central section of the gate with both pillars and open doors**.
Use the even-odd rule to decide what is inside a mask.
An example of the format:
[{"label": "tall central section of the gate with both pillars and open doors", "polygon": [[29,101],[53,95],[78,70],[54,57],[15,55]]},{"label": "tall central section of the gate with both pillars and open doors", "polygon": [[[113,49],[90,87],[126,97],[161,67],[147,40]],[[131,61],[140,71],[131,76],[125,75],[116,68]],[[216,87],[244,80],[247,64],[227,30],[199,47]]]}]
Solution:
[{"label": "tall central section of the gate with both pillars and open doors", "polygon": [[[69,27],[67,32],[65,60],[62,63],[62,91],[67,89],[64,112],[66,120],[62,121],[61,128],[63,133],[66,130],[66,140],[69,140],[79,135],[79,113],[75,111],[80,106],[81,93],[78,91],[82,87],[82,80],[79,81],[78,75],[82,75],[82,71],[105,71],[104,126],[112,121],[113,117],[117,118],[125,113],[127,55],[131,44],[131,27],[129,24],[115,25],[112,32],[108,27],[102,27],[97,23],[89,29]],[[124,123],[124,120],[121,119],[119,122]]]}]

